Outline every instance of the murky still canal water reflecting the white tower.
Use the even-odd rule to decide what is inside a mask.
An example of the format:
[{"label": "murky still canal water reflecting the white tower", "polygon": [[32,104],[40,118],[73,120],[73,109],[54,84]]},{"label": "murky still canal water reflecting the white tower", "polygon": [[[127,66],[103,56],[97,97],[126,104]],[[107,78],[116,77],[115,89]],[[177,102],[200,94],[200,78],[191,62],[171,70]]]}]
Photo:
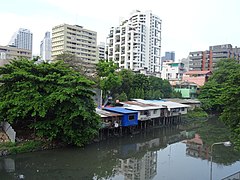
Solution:
[{"label": "murky still canal water reflecting the white tower", "polygon": [[[8,156],[0,159],[0,179],[208,180],[208,143],[225,140],[224,129],[215,122],[209,120],[193,129],[154,128],[84,148]],[[212,155],[214,180],[240,171],[240,152],[233,147],[216,145]]]}]

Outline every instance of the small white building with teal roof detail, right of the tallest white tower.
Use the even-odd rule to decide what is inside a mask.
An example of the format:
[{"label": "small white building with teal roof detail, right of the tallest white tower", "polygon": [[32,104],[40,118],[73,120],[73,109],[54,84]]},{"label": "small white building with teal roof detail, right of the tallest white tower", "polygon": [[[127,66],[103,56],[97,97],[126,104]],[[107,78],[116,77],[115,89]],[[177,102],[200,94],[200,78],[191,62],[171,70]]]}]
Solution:
[{"label": "small white building with teal roof detail, right of the tallest white tower", "polygon": [[184,73],[184,64],[175,63],[172,60],[163,62],[161,78],[170,81],[181,80]]}]

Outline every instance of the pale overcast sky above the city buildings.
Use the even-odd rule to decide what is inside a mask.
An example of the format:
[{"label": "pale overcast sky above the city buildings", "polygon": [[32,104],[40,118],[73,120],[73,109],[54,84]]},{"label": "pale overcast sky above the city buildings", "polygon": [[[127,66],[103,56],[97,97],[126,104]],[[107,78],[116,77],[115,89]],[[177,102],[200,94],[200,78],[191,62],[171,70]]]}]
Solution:
[{"label": "pale overcast sky above the city buildings", "polygon": [[0,45],[19,28],[33,33],[33,54],[55,25],[78,24],[97,31],[105,42],[109,29],[131,11],[152,10],[162,19],[162,50],[176,59],[211,45],[240,46],[240,0],[0,0]]}]

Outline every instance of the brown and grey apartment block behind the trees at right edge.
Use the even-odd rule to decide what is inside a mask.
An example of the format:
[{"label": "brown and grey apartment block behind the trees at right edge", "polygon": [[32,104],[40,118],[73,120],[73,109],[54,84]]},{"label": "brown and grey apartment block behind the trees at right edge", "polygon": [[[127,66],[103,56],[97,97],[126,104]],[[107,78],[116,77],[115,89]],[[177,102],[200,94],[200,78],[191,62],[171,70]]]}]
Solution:
[{"label": "brown and grey apartment block behind the trees at right edge", "polygon": [[233,48],[231,44],[210,46],[206,51],[194,51],[189,53],[190,71],[214,70],[216,63],[223,58],[240,60],[240,48]]}]

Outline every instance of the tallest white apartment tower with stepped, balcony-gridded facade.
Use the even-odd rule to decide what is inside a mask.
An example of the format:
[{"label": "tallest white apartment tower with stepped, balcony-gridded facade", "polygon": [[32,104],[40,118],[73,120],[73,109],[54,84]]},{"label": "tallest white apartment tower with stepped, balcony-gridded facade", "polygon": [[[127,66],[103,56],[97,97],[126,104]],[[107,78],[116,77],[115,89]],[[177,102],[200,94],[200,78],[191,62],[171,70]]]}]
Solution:
[{"label": "tallest white apartment tower with stepped, balcony-gridded facade", "polygon": [[151,11],[134,11],[112,27],[107,38],[108,59],[121,69],[160,72],[161,19]]}]

